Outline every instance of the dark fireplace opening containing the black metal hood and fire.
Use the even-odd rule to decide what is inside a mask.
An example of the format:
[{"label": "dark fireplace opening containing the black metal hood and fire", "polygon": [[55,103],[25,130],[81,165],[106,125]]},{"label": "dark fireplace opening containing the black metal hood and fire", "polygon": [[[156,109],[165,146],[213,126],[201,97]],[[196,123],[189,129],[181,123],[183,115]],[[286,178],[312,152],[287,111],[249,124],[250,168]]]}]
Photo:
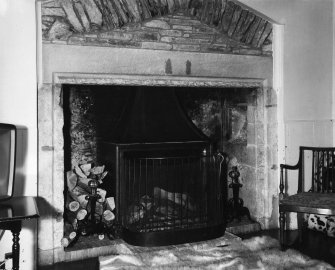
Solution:
[{"label": "dark fireplace opening containing the black metal hood and fire", "polygon": [[[87,197],[84,184],[100,169],[103,199],[113,201],[108,209],[97,202],[97,218],[111,211],[126,241],[160,245],[222,235],[229,196],[222,153],[232,165],[249,159],[257,91],[63,85],[65,213],[71,191]],[[64,217],[65,235],[78,230],[76,211]]]}]

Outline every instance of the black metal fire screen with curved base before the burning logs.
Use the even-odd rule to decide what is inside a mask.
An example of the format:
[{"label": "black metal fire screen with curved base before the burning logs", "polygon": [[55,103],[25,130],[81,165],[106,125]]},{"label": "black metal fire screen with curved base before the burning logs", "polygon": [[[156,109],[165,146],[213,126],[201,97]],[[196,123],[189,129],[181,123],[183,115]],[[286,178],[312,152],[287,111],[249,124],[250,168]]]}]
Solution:
[{"label": "black metal fire screen with curved base before the burning logs", "polygon": [[111,148],[123,239],[152,246],[224,234],[227,168],[223,155],[206,154],[199,147],[187,151]]}]

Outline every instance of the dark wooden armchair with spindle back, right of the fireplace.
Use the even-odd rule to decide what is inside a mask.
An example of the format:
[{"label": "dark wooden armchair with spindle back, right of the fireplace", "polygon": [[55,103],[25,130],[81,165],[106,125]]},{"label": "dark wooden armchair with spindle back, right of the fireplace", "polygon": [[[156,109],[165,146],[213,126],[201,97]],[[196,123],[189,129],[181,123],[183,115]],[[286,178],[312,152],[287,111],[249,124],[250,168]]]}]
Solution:
[{"label": "dark wooden armchair with spindle back, right of the fireplace", "polygon": [[[285,196],[288,170],[298,171],[298,192]],[[296,165],[280,165],[279,185],[279,225],[280,244],[285,245],[285,212],[298,213],[299,239],[302,239],[304,213],[335,215],[335,147],[299,148],[299,161]]]}]

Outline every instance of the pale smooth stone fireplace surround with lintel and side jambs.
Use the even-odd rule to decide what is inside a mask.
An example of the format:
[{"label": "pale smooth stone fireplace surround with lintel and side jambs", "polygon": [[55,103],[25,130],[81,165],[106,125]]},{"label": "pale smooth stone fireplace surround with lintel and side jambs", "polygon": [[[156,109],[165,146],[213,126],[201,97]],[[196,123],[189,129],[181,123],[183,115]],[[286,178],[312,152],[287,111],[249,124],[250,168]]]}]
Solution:
[{"label": "pale smooth stone fireplace surround with lintel and side jambs", "polygon": [[[44,201],[38,235],[39,264],[99,254],[65,252],[61,246],[64,211],[62,84],[258,88],[255,126],[247,148],[254,153],[254,218],[276,226],[277,121],[272,89],[272,57],[172,52],[45,43],[38,88],[39,197]],[[166,63],[171,65],[167,74]],[[191,63],[191,74],[186,66]],[[172,72],[171,72],[172,70]],[[253,152],[254,151],[254,152]],[[248,203],[248,202],[246,202]]]}]

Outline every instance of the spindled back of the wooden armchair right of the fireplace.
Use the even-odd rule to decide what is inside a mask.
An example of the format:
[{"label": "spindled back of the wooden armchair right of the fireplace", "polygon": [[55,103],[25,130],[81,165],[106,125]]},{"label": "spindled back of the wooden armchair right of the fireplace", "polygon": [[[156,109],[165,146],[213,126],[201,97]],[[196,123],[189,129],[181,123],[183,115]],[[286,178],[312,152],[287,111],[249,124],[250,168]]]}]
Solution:
[{"label": "spindled back of the wooden armchair right of the fireplace", "polygon": [[335,147],[301,146],[299,151],[298,192],[304,191],[305,181],[311,178],[308,191],[335,193]]}]

